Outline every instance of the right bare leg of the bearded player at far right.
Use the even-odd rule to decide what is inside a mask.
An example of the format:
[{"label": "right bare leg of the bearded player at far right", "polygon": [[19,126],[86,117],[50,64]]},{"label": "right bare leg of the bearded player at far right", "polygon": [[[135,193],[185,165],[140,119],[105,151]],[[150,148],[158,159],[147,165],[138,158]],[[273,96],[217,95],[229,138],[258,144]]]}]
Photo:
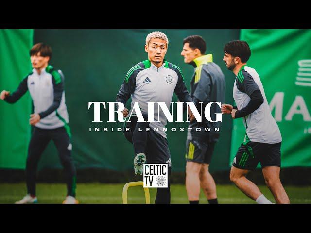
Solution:
[{"label": "right bare leg of the bearded player at far right", "polygon": [[265,166],[262,168],[264,180],[278,204],[289,204],[290,200],[280,181],[280,168],[278,166]]}]

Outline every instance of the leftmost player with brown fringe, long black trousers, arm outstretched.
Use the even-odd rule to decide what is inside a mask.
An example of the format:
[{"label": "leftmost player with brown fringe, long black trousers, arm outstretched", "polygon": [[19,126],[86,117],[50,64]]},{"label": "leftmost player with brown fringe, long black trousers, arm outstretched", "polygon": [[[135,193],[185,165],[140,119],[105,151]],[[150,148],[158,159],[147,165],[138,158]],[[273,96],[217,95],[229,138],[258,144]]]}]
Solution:
[{"label": "leftmost player with brown fringe, long black trousers, arm outstretched", "polygon": [[53,140],[64,166],[67,182],[67,197],[63,203],[78,203],[75,199],[76,170],[73,165],[70,143],[71,133],[67,107],[65,104],[64,76],[60,70],[48,65],[52,56],[50,46],[38,43],[30,50],[33,70],[19,84],[17,90],[10,94],[3,90],[0,99],[15,103],[28,90],[34,103],[34,114],[29,120],[34,126],[28,147],[26,161],[27,195],[17,204],[35,203],[36,169],[42,152]]}]

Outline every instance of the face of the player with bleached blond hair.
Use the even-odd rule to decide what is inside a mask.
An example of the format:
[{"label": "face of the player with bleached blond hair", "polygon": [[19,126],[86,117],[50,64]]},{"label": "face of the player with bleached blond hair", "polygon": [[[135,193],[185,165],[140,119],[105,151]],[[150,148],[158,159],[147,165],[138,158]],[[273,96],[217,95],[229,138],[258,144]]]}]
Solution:
[{"label": "face of the player with bleached blond hair", "polygon": [[161,63],[167,51],[166,41],[159,38],[151,39],[149,44],[145,45],[145,51],[151,62]]}]

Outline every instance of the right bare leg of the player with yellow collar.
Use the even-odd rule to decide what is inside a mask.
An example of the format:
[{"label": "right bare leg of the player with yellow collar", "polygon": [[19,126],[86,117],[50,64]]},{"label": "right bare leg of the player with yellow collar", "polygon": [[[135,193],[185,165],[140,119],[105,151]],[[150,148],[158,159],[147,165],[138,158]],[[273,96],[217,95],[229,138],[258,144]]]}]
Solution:
[{"label": "right bare leg of the player with yellow collar", "polygon": [[205,196],[207,197],[207,200],[210,199],[216,199],[216,184],[211,176],[211,174],[208,171],[209,164],[202,164],[201,170],[200,170],[200,182],[201,182],[201,188],[203,189],[203,192]]}]

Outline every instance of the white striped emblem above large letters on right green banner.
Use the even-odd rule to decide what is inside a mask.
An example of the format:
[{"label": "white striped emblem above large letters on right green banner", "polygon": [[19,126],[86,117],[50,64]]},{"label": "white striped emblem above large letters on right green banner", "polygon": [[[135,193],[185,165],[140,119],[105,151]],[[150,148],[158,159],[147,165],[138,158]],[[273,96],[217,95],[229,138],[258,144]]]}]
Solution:
[{"label": "white striped emblem above large letters on right green banner", "polygon": [[298,61],[298,66],[295,84],[298,86],[311,86],[311,59]]}]

